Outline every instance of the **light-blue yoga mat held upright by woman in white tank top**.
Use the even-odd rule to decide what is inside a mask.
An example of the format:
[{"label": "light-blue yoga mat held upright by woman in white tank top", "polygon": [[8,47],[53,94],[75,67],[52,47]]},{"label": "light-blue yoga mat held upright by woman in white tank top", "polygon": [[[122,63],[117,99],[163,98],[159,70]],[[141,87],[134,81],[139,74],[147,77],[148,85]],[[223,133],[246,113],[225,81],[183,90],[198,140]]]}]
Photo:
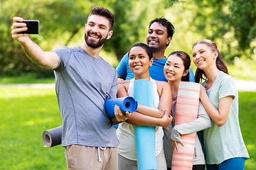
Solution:
[{"label": "light-blue yoga mat held upright by woman in white tank top", "polygon": [[[134,99],[154,108],[153,82],[148,79],[134,81]],[[134,126],[138,170],[157,169],[154,126]]]}]

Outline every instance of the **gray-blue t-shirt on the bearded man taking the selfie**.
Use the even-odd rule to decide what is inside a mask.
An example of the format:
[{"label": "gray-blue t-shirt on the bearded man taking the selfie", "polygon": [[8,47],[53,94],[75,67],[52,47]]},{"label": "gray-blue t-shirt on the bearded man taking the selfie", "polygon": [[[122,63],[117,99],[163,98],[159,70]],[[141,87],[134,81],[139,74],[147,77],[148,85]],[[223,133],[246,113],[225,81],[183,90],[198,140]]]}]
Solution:
[{"label": "gray-blue t-shirt on the bearded man taking the selfie", "polygon": [[63,123],[62,146],[117,147],[119,144],[105,101],[116,98],[117,72],[102,57],[82,47],[53,49],[60,61],[54,70]]}]

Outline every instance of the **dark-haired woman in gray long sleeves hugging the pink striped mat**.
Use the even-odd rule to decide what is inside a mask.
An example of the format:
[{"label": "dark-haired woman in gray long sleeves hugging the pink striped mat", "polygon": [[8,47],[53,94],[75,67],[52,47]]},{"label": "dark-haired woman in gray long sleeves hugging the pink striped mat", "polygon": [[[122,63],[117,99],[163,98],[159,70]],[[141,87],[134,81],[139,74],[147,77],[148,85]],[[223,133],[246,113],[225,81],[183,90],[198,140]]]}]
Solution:
[{"label": "dark-haired woman in gray long sleeves hugging the pink striped mat", "polygon": [[[198,118],[188,123],[174,126],[176,101],[178,96],[178,86],[181,81],[189,81],[189,67],[191,58],[186,52],[172,52],[164,65],[164,75],[171,86],[172,106],[171,115],[174,117],[171,125],[164,128],[164,154],[168,169],[171,169],[173,149],[178,150],[177,143],[181,143],[181,135],[188,135],[210,127],[210,117],[203,108],[201,102],[198,103]],[[181,145],[183,145],[181,143]],[[179,146],[181,147],[181,146]],[[193,170],[204,170],[205,159],[203,149],[196,134],[196,142],[193,154]]]}]

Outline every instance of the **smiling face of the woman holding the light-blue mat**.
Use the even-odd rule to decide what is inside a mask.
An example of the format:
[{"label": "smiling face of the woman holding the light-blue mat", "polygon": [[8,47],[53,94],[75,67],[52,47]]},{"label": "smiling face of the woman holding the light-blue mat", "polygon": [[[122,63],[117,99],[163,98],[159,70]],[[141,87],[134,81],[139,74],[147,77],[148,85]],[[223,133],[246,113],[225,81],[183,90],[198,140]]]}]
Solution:
[{"label": "smiling face of the woman holding the light-blue mat", "polygon": [[[153,58],[149,60],[144,48],[136,46],[129,50],[129,67],[136,76],[143,76],[145,73],[149,73],[149,67],[153,64]],[[145,76],[147,76],[145,74]]]}]

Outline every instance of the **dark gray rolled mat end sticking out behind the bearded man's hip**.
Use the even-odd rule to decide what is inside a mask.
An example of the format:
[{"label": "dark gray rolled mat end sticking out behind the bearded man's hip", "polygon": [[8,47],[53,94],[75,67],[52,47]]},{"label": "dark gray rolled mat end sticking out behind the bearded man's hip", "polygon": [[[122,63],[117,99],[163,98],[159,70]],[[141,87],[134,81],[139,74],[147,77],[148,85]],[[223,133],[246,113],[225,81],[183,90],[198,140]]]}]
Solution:
[{"label": "dark gray rolled mat end sticking out behind the bearded man's hip", "polygon": [[42,138],[45,147],[54,147],[61,144],[62,126],[43,131]]}]

